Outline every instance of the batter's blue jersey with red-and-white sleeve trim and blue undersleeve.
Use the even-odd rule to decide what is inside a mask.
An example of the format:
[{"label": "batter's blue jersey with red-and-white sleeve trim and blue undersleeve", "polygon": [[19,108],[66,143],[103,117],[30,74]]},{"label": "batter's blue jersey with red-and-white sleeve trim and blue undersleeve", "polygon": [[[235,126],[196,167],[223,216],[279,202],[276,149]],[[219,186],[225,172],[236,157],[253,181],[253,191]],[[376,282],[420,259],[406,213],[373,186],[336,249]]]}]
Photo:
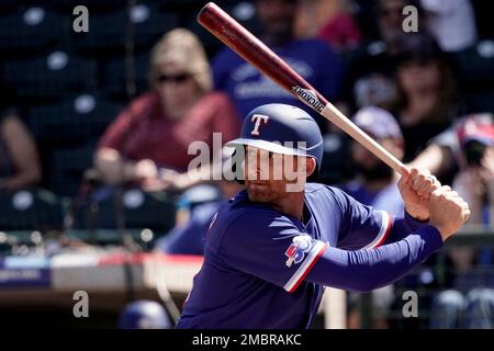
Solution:
[{"label": "batter's blue jersey with red-and-white sleeve trim and blue undersleeve", "polygon": [[[440,247],[436,229],[373,252],[388,237],[400,240],[422,227],[408,218],[392,234],[392,225],[388,213],[330,186],[306,185],[304,223],[250,202],[243,191],[212,219],[204,263],[177,327],[308,328],[324,285],[351,288],[352,274],[388,284]],[[345,250],[358,250],[359,257],[344,256]],[[389,262],[382,262],[390,254]],[[356,283],[356,290],[361,284]]]}]

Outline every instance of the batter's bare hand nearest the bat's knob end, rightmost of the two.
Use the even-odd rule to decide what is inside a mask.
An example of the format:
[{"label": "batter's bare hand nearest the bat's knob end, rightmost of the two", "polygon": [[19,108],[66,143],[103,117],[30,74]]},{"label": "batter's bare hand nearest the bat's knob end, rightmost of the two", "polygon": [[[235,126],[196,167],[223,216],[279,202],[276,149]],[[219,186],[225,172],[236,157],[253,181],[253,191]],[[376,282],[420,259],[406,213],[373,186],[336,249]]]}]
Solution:
[{"label": "batter's bare hand nearest the bat's knob end, rightmost of the two", "polygon": [[453,235],[470,216],[467,202],[447,185],[431,193],[429,212],[429,224],[440,231],[442,241]]}]

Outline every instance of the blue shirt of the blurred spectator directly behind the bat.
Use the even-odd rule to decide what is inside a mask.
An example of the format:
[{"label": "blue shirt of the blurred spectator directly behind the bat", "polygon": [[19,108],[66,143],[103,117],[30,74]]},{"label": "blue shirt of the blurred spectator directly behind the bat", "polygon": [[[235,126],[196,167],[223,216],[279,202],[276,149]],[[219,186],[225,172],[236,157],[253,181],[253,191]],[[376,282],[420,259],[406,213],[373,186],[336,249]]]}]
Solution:
[{"label": "blue shirt of the blurred spectator directly behind the bat", "polygon": [[[343,65],[332,48],[318,39],[299,39],[273,47],[294,70],[326,99],[336,98]],[[225,48],[213,60],[214,88],[226,92],[242,116],[267,103],[288,103],[321,118],[313,110],[265,77],[232,49]]]}]

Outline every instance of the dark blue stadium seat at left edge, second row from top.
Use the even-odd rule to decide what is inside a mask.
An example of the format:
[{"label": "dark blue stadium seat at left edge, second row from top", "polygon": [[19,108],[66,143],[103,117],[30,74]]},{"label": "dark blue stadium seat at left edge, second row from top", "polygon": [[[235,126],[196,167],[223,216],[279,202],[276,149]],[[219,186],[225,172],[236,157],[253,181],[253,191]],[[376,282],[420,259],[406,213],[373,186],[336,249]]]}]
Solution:
[{"label": "dark blue stadium seat at left edge, second row from top", "polygon": [[32,103],[57,101],[97,84],[96,63],[64,50],[7,61],[2,76],[20,99]]}]

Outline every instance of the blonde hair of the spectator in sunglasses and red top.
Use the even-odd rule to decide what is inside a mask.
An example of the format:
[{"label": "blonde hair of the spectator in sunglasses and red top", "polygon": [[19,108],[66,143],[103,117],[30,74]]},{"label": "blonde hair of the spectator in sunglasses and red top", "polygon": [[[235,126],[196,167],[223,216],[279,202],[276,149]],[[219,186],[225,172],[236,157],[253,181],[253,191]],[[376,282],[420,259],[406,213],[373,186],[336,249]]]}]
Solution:
[{"label": "blonde hair of the spectator in sunglasses and red top", "polygon": [[157,69],[161,65],[175,64],[191,75],[202,92],[209,92],[213,82],[211,67],[204,47],[190,31],[176,29],[166,33],[153,47],[150,54],[149,83],[153,87]]}]

